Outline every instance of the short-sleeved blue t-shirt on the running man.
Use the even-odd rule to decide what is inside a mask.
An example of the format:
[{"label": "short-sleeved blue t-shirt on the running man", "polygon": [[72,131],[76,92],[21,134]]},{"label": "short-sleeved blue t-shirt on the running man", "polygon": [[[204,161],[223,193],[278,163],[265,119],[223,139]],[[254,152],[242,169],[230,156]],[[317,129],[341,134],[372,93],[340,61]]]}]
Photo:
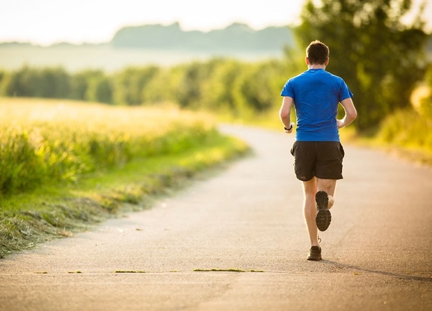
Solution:
[{"label": "short-sleeved blue t-shirt on the running man", "polygon": [[324,69],[309,69],[289,79],[281,96],[294,99],[296,141],[339,141],[337,107],[342,100],[353,97],[341,77]]}]

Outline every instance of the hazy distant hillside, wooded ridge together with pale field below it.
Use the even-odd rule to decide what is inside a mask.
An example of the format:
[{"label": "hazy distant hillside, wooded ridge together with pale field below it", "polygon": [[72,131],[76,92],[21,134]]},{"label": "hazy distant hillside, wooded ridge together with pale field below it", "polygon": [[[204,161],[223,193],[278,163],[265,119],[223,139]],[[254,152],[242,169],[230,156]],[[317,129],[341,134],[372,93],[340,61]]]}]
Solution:
[{"label": "hazy distant hillside, wooded ridge together with pale field below it", "polygon": [[0,43],[0,71],[29,65],[61,66],[72,72],[85,69],[114,72],[127,66],[171,66],[212,57],[253,62],[283,57],[284,47],[293,44],[288,26],[256,31],[236,23],[208,32],[183,31],[178,23],[128,26],[101,44],[59,42],[42,47],[28,42]]}]

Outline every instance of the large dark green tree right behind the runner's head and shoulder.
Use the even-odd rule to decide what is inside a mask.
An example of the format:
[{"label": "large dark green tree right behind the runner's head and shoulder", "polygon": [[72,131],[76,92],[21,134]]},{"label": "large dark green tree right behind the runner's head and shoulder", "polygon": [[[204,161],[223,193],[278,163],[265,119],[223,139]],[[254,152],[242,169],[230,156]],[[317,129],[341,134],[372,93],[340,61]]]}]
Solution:
[{"label": "large dark green tree right behind the runner's head and shoulder", "polygon": [[412,24],[401,22],[411,8],[410,0],[308,0],[303,8],[295,37],[304,47],[313,40],[330,47],[328,68],[354,93],[360,129],[408,106],[424,76],[422,9]]}]

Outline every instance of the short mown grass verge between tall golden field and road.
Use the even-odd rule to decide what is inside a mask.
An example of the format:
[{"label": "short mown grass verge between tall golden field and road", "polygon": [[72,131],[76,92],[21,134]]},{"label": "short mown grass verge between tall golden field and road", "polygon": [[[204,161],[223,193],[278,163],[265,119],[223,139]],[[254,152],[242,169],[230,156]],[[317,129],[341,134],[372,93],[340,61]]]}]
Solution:
[{"label": "short mown grass verge between tall golden field and road", "polygon": [[167,195],[247,154],[247,145],[215,135],[203,145],[174,155],[137,159],[121,168],[86,176],[77,184],[45,184],[37,191],[3,198],[0,257],[56,237],[70,237],[121,212],[151,207]]}]

